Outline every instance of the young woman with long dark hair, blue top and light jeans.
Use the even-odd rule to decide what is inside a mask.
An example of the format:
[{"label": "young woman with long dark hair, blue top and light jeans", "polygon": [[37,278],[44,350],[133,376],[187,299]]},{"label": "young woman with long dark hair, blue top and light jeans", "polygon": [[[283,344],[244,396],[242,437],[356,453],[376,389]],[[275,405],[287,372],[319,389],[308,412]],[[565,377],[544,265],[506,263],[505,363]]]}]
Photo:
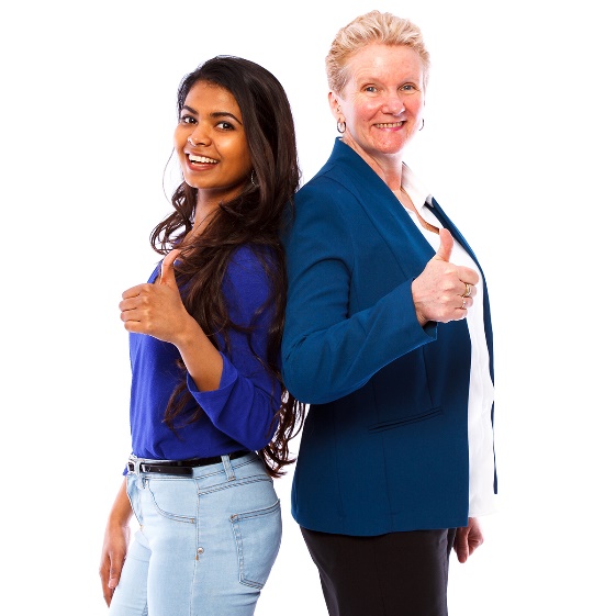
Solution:
[{"label": "young woman with long dark hair, blue top and light jeans", "polygon": [[120,302],[133,451],[100,576],[112,616],[248,616],[280,546],[272,478],[304,413],[279,370],[293,119],[273,75],[229,56],[187,75],[177,105],[183,181],[150,235],[166,256]]}]

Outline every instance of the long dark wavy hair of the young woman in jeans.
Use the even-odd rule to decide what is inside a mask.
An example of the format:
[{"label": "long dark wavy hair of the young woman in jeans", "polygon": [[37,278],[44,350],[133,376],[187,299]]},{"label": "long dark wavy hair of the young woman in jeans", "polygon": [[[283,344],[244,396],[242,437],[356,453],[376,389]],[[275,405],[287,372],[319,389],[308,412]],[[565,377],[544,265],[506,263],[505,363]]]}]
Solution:
[{"label": "long dark wavy hair of the young woman in jeans", "polygon": [[[280,235],[284,221],[289,221],[301,178],[291,105],[278,79],[264,67],[235,56],[216,56],[181,80],[178,119],[190,89],[200,81],[225,88],[237,101],[254,171],[242,193],[221,202],[205,229],[183,242],[192,229],[197,189],[182,181],[171,197],[175,211],[153,229],[150,244],[156,253],[165,255],[181,242],[181,265],[175,267],[178,283],[190,281],[182,298],[184,305],[216,348],[216,334],[223,337],[229,354],[233,352],[229,329],[249,335],[251,328],[242,327],[229,318],[221,292],[227,264],[243,245],[250,245],[260,259],[271,292],[255,318],[266,310],[271,311],[273,317],[268,332],[267,358],[259,361],[281,383],[282,396],[273,417],[278,423],[273,439],[258,455],[268,473],[280,477],[285,472],[283,467],[295,461],[290,458],[289,440],[300,432],[305,416],[305,405],[284,388],[279,367],[287,298]],[[186,373],[181,359],[179,366]],[[188,408],[194,412],[187,412]],[[201,413],[201,408],[194,408],[186,379],[180,380],[167,404],[165,424],[175,430],[178,422],[190,424]]]}]

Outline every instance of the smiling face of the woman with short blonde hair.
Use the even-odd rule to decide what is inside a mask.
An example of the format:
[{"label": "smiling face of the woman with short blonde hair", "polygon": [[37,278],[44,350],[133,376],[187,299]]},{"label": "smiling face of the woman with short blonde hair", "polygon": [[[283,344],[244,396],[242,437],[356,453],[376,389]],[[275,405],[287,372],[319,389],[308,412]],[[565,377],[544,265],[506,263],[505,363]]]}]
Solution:
[{"label": "smiling face of the woman with short blonde hair", "polygon": [[406,46],[371,43],[350,57],[347,70],[344,90],[329,93],[334,116],[347,125],[343,141],[369,161],[400,158],[422,125],[419,55]]}]

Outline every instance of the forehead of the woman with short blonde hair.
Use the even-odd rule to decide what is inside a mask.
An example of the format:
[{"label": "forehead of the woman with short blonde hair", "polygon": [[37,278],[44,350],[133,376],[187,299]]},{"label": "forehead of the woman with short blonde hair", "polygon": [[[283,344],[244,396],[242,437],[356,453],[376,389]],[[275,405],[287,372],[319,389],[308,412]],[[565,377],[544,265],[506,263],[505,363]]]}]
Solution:
[{"label": "forehead of the woman with short blonde hair", "polygon": [[347,61],[351,81],[421,81],[424,67],[419,54],[405,45],[371,43]]}]

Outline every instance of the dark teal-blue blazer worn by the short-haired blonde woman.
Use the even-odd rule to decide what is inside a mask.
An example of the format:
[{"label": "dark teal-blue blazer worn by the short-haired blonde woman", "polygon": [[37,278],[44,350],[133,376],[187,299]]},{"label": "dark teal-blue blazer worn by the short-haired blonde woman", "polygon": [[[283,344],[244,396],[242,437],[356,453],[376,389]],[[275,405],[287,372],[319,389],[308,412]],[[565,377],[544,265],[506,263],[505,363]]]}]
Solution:
[{"label": "dark teal-blue blazer worn by the short-haired blonde woman", "polygon": [[[383,180],[339,139],[298,192],[284,245],[282,372],[289,391],[310,404],[293,475],[294,519],[361,536],[466,526],[469,331],[466,320],[422,327],[411,296],[434,249]],[[486,289],[483,310],[493,378]]]}]

